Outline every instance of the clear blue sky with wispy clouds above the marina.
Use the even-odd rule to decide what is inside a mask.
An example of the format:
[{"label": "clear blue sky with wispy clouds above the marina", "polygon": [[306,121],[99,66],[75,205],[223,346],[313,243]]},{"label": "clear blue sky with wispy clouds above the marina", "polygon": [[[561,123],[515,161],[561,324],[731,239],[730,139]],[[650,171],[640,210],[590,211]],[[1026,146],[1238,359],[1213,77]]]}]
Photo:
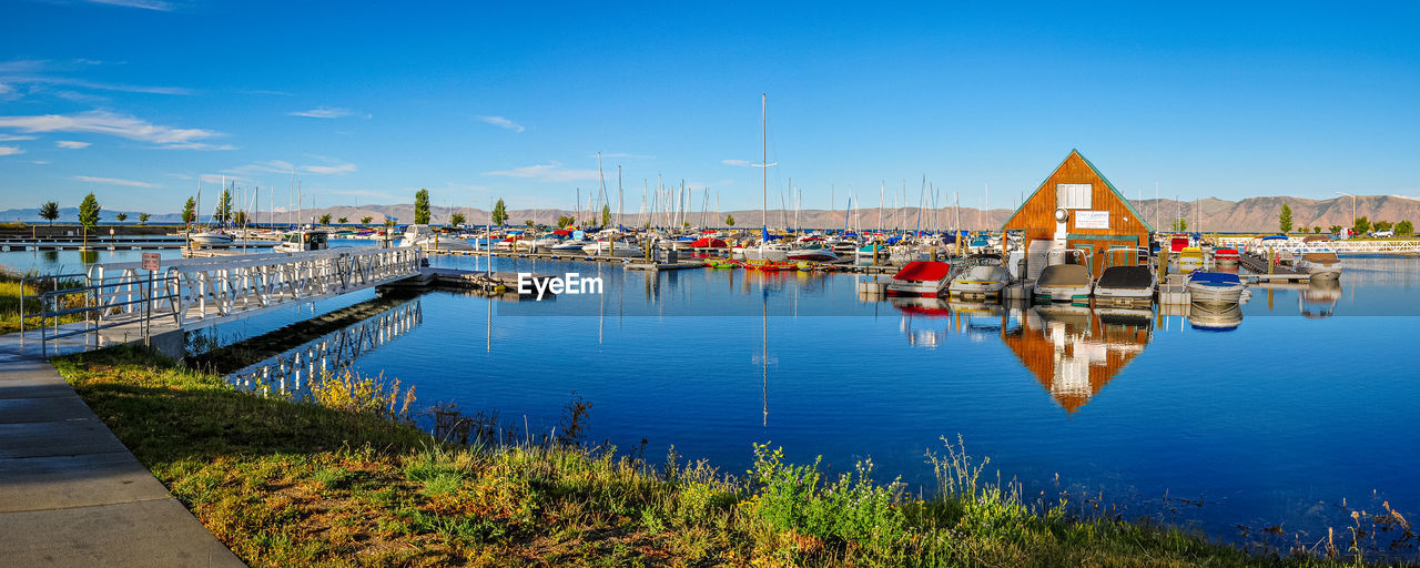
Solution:
[{"label": "clear blue sky with wispy clouds above the marina", "polygon": [[750,209],[761,92],[771,203],[1010,207],[1071,148],[1129,196],[1420,196],[1417,3],[933,4],[4,1],[0,209],[199,175],[284,207],[293,169],[318,206],[569,209],[596,152],[628,212],[657,175]]}]

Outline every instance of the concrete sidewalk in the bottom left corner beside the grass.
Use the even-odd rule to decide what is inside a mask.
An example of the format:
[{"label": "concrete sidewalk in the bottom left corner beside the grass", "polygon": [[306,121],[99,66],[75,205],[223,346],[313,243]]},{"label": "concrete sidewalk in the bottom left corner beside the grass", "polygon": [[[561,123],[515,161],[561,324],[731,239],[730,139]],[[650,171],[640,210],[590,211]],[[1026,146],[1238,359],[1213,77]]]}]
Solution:
[{"label": "concrete sidewalk in the bottom left corner beside the grass", "polygon": [[0,558],[243,567],[45,361],[0,349]]}]

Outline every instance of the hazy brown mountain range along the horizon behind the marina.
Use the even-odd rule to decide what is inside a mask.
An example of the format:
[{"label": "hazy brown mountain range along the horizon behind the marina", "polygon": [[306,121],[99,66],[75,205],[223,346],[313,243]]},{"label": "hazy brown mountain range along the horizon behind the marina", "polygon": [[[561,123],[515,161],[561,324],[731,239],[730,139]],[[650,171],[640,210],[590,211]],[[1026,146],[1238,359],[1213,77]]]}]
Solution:
[{"label": "hazy brown mountain range along the horizon behind the marina", "polygon": [[[1186,217],[1189,220],[1189,230],[1204,230],[1204,231],[1275,231],[1278,230],[1278,213],[1282,209],[1282,203],[1287,203],[1292,209],[1292,222],[1295,227],[1315,227],[1321,226],[1323,230],[1333,226],[1350,226],[1352,224],[1352,199],[1338,197],[1338,199],[1305,199],[1305,197],[1250,197],[1240,202],[1228,202],[1223,199],[1200,199],[1197,202],[1176,202],[1172,199],[1145,199],[1135,200],[1135,209],[1139,210],[1150,223],[1159,224],[1157,229],[1169,229],[1173,220],[1177,217]],[[101,214],[102,222],[112,223],[114,214],[119,212],[105,210]],[[128,222],[133,223],[138,220],[138,212],[124,212],[128,213]],[[301,217],[310,222],[312,217],[320,219],[322,214],[329,214],[331,222],[337,222],[345,217],[348,223],[359,223],[364,217],[371,217],[371,223],[381,224],[385,219],[393,217],[398,223],[409,223],[415,219],[415,206],[412,203],[400,204],[362,204],[358,207],[351,206],[334,206],[321,209],[308,209],[301,212]],[[470,223],[487,223],[488,212],[483,209],[463,209],[463,207],[432,207],[433,223],[443,224],[449,222],[453,213],[463,213]],[[924,209],[922,212],[920,226],[923,229],[930,229],[933,226],[940,229],[951,229],[956,226],[954,220],[960,219],[960,229],[997,229],[1005,219],[1012,213],[1010,209],[991,209],[990,212],[981,212],[973,207],[946,207],[946,209]],[[565,209],[510,209],[508,223],[523,224],[525,220],[532,220],[541,224],[555,224],[559,216],[574,214]],[[585,214],[585,212],[584,212]],[[724,226],[726,216],[734,216],[736,227],[757,227],[761,223],[760,210],[731,210],[731,212],[692,212],[687,217],[690,224],[704,224],[707,226]],[[882,210],[882,224],[886,227],[903,227],[912,229],[919,226],[917,207],[900,207],[900,209],[883,209]],[[1355,199],[1355,214],[1366,216],[1372,222],[1389,220],[1389,222],[1420,222],[1420,200],[1399,196],[1356,196]],[[795,222],[795,216],[798,220]],[[258,212],[256,220],[260,223],[267,223],[274,220],[277,223],[295,223],[297,214],[294,212]],[[646,214],[630,214],[628,213],[622,223],[625,224],[642,224],[646,220]],[[853,227],[873,229],[879,226],[879,210],[878,207],[859,209],[852,214],[852,220],[848,223]],[[26,223],[47,223],[40,219],[38,209],[9,209],[0,212],[0,222],[26,222]],[[62,207],[60,209],[60,219],[57,223],[75,223],[78,220],[77,207]],[[163,213],[153,214],[149,223],[179,223],[182,216],[178,213]],[[616,222],[616,212],[612,212],[612,222]],[[770,210],[770,226],[798,226],[798,227],[842,227],[845,223],[845,212],[835,210],[829,212],[825,209],[805,209],[799,212],[785,212],[780,209]],[[656,214],[655,224],[667,224],[666,216],[663,213]]]}]

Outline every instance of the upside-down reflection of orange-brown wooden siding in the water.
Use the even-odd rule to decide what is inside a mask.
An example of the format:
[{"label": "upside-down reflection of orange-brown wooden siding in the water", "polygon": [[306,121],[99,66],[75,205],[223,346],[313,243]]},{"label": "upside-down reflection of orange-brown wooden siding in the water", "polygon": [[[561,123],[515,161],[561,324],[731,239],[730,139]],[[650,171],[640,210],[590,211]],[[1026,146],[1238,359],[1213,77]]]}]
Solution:
[{"label": "upside-down reflection of orange-brown wooden siding in the water", "polygon": [[[1056,365],[1056,351],[1055,342],[1051,341],[1051,331],[1048,327],[1037,328],[1030,324],[1022,322],[1021,328],[1015,332],[1005,332],[1001,335],[1001,341],[1015,352],[1015,356],[1021,359],[1021,364],[1035,375],[1035,381],[1045,388],[1045,392],[1051,393],[1055,403],[1059,405],[1065,412],[1079,410],[1085,406],[1099,390],[1105,388],[1119,372],[1133,361],[1135,355],[1140,349],[1106,349],[1103,365],[1089,366],[1089,393],[1064,393],[1054,389],[1055,382],[1061,378],[1056,376],[1059,366]],[[1089,329],[1079,329],[1076,325],[1066,324],[1068,335],[1086,334],[1091,341],[1102,341],[1108,345],[1147,345],[1150,334],[1147,328],[1109,328],[1102,327],[1099,317],[1091,314]],[[1074,356],[1075,346],[1072,341],[1066,341],[1064,345],[1062,356]]]}]

